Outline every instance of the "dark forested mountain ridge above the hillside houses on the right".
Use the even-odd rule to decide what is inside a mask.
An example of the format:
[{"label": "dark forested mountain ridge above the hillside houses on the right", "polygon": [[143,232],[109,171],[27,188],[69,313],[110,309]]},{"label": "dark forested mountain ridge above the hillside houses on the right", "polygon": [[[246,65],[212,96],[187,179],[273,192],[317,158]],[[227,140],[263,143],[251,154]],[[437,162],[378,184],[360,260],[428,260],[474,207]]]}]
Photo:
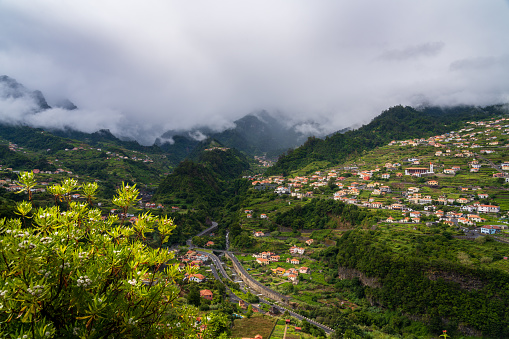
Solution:
[{"label": "dark forested mountain ridge above the hillside houses on the right", "polygon": [[422,110],[409,106],[391,107],[359,129],[344,134],[336,133],[325,140],[308,138],[301,147],[282,155],[267,173],[288,173],[314,161],[337,164],[351,155],[361,154],[394,139],[441,134],[454,130],[462,121],[484,119],[500,114],[505,114],[502,105],[484,108],[429,107]]}]

